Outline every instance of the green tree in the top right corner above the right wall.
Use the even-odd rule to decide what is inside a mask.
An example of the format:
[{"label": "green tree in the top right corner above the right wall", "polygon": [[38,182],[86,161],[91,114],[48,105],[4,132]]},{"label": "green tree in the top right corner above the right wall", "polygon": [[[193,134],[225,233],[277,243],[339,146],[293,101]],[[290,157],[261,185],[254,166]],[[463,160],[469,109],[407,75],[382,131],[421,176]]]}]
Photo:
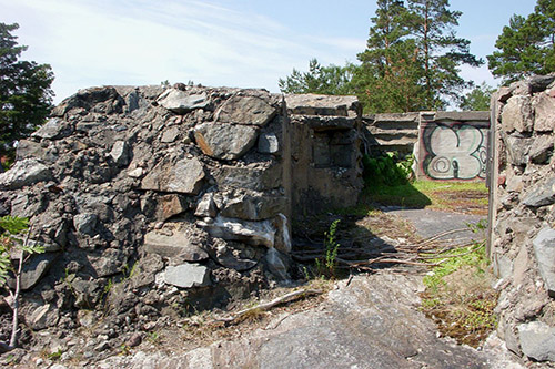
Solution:
[{"label": "green tree in the top right corner above the right wall", "polygon": [[555,72],[555,2],[538,0],[528,17],[514,14],[495,48],[488,68],[508,84],[532,74]]}]

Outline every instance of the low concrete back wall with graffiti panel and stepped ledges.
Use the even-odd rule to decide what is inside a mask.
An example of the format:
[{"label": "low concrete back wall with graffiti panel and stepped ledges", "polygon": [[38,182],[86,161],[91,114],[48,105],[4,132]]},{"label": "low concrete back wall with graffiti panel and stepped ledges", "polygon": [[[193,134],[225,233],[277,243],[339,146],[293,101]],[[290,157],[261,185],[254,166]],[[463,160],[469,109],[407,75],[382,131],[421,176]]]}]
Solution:
[{"label": "low concrete back wall with graffiti panel and stepped ledges", "polygon": [[414,112],[363,116],[370,155],[414,154],[420,180],[484,181],[490,112]]}]

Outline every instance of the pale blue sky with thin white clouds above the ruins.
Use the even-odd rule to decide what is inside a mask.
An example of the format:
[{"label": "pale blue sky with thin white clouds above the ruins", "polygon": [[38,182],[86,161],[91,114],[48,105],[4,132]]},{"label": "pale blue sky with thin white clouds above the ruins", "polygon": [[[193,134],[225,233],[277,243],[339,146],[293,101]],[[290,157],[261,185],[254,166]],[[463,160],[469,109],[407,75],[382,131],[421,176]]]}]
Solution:
[{"label": "pale blue sky with thin white clouds above the ruins", "polygon": [[[535,0],[451,0],[461,10],[457,35],[485,60],[512,14]],[[104,84],[265,88],[311,58],[356,61],[374,0],[0,0],[0,22],[20,24],[23,59],[50,63],[56,102]],[[487,66],[462,75],[495,85]]]}]

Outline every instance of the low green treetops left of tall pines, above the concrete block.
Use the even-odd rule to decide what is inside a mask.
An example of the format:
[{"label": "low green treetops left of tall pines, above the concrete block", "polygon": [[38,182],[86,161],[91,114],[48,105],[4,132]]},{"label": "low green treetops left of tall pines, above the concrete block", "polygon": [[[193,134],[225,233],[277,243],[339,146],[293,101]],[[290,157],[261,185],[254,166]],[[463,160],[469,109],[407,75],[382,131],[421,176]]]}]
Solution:
[{"label": "low green treetops left of tall pines, above the concrete block", "polygon": [[322,66],[316,59],[309,62],[309,72],[293,69],[293,73],[280,79],[278,84],[284,93],[321,93],[329,95],[344,95],[351,92],[350,83],[353,65]]}]

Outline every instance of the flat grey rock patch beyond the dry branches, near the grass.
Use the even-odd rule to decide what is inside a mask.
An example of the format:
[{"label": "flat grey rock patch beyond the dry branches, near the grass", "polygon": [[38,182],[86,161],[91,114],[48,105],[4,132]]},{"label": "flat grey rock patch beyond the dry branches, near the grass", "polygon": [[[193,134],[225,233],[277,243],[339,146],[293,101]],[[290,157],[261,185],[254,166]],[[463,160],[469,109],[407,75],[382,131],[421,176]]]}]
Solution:
[{"label": "flat grey rock patch beyond the dry branches, near the grass", "polygon": [[472,240],[484,239],[484,233],[473,233],[467,224],[476,224],[486,217],[481,215],[457,214],[428,208],[401,208],[396,206],[386,206],[381,208],[384,213],[400,216],[411,222],[416,228],[418,236],[423,238],[434,237],[438,234],[455,229],[465,229],[464,232],[452,233],[440,237],[445,243],[466,244]]}]

